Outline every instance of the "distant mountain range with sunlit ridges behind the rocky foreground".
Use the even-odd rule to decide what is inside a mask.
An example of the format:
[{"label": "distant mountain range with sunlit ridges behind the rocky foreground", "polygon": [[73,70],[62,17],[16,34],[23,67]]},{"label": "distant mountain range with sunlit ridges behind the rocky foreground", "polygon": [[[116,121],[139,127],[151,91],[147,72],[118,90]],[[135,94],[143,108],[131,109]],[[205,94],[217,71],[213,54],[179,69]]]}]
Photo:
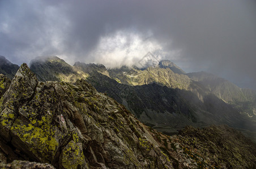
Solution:
[{"label": "distant mountain range with sunlit ridges behind the rocky foreground", "polygon": [[228,124],[256,139],[256,91],[210,73],[185,73],[169,60],[143,69],[106,69],[102,64],[79,62],[71,66],[49,56],[32,60],[30,68],[42,82],[74,83],[83,78],[141,122],[165,134],[172,135],[186,125]]}]

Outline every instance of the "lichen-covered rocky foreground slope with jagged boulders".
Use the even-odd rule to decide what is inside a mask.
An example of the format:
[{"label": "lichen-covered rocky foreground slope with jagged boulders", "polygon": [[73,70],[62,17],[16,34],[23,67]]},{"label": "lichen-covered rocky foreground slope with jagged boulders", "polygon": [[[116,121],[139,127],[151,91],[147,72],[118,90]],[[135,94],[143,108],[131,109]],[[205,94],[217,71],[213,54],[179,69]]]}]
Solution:
[{"label": "lichen-covered rocky foreground slope with jagged boulders", "polygon": [[26,64],[0,75],[1,168],[255,168],[256,149],[227,126],[167,136],[83,79],[39,82]]}]

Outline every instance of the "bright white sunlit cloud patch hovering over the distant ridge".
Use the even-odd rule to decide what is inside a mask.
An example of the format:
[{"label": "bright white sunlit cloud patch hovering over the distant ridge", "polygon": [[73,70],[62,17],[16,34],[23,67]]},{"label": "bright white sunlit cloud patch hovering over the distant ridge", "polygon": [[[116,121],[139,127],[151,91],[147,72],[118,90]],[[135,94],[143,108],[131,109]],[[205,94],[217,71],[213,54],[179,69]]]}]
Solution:
[{"label": "bright white sunlit cloud patch hovering over the distant ridge", "polygon": [[153,38],[151,34],[146,35],[118,31],[114,34],[106,35],[100,38],[100,41],[90,54],[94,58],[93,62],[104,64],[107,68],[120,67],[122,65],[139,65],[139,61],[151,52],[157,60],[165,57],[176,58],[180,51],[165,51],[163,46]]}]

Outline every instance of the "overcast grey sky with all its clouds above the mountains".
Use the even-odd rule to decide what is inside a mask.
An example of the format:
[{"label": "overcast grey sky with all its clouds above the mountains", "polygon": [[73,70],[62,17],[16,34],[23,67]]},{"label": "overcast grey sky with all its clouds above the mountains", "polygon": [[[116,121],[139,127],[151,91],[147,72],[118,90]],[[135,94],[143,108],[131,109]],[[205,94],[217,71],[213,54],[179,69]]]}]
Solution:
[{"label": "overcast grey sky with all its clouds above the mountains", "polygon": [[0,0],[0,55],[57,55],[108,67],[147,52],[256,89],[256,1]]}]

